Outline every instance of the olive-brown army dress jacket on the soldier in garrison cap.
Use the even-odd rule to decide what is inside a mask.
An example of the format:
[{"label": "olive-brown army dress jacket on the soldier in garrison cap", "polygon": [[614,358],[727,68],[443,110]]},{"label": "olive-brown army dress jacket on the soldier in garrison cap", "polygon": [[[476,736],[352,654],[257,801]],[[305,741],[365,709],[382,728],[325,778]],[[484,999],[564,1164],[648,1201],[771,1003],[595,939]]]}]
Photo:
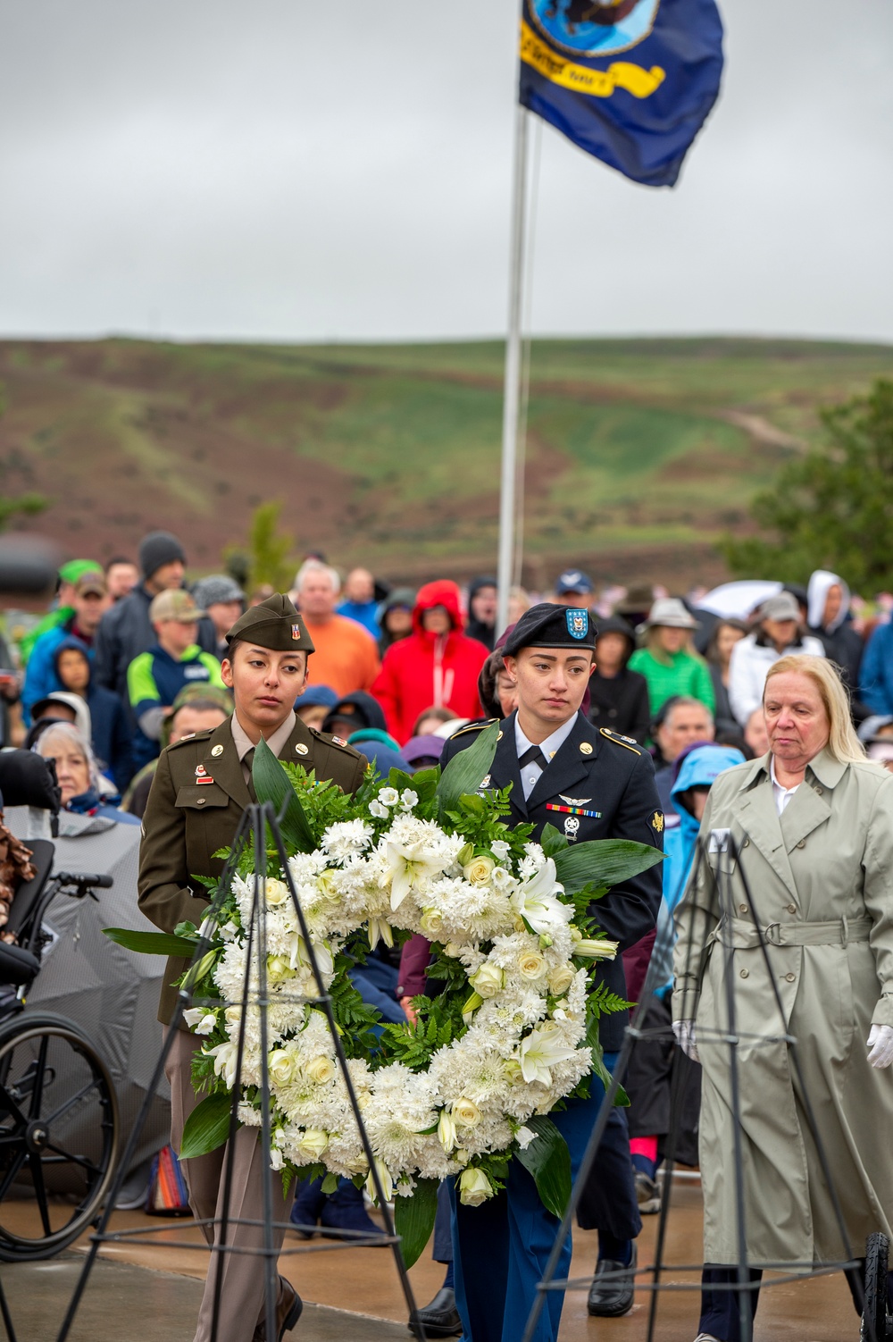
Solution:
[{"label": "olive-brown army dress jacket on the soldier in garrison cap", "polygon": [[[347,793],[357,792],[366,769],[357,750],[307,727],[300,718],[279,758],[315,769],[319,780],[331,778]],[[201,769],[212,782],[196,781]],[[212,854],[232,844],[252,800],[229,721],[161,752],[142,821],[138,879],[139,907],[156,927],[172,933],[178,922],[201,923],[208,891],[193,878],[220,876],[224,862]],[[168,961],[158,1002],[162,1024],[173,1016],[174,982],[186,969],[186,960]]]}]

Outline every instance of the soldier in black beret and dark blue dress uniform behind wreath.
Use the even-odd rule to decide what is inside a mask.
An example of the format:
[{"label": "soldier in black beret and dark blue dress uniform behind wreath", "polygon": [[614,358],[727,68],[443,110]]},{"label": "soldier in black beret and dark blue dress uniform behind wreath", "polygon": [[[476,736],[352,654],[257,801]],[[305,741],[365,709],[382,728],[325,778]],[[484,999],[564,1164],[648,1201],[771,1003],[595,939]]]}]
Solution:
[{"label": "soldier in black beret and dark blue dress uniform behind wreath", "polygon": [[[508,825],[532,824],[539,840],[547,824],[569,844],[587,839],[632,839],[662,848],[664,816],[652,758],[636,741],[595,727],[581,711],[593,671],[595,627],[585,607],[551,603],[526,611],[503,647],[505,668],[518,686],[518,709],[501,722],[485,788],[511,785]],[[479,739],[487,723],[461,727],[444,745],[441,764]],[[621,882],[597,905],[599,927],[626,950],[650,933],[661,902],[661,870]],[[598,982],[626,996],[623,962],[603,961]],[[626,1013],[606,1016],[599,1039],[609,1070],[615,1064]],[[595,1122],[603,1087],[591,1078],[590,1099],[570,1099],[551,1114],[563,1133],[574,1174]],[[613,1108],[578,1220],[599,1231],[599,1260],[590,1290],[590,1314],[617,1317],[633,1304],[636,1236],[641,1217],[622,1110]],[[543,1279],[558,1223],[543,1206],[527,1170],[515,1162],[504,1192],[476,1208],[453,1200],[456,1306],[464,1337],[520,1337]],[[570,1275],[570,1237],[555,1264]],[[510,1264],[511,1276],[510,1276]],[[609,1275],[610,1274],[610,1275]],[[555,1304],[551,1304],[551,1300]],[[560,1295],[550,1296],[552,1334]]]}]

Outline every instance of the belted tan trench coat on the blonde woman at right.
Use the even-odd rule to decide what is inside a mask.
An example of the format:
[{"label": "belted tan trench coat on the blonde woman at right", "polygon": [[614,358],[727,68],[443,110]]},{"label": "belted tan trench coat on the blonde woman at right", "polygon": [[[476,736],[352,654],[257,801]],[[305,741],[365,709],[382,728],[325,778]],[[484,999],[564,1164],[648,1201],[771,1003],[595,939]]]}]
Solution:
[{"label": "belted tan trench coat on the blonde woman at right", "polygon": [[[768,768],[766,756],[713,784],[701,839],[716,880],[703,867],[677,911],[673,1020],[696,1019],[703,1064],[704,1261],[739,1259],[729,1047],[713,1035],[728,1029],[728,966],[736,1029],[762,1036],[737,1047],[750,1263],[834,1263],[847,1249],[778,1036],[796,1039],[849,1251],[861,1257],[866,1236],[893,1225],[893,1068],[873,1068],[865,1044],[872,1021],[893,1025],[893,776],[823,750],[779,817]],[[739,862],[723,852],[724,831]],[[768,929],[768,969],[755,915]]]}]

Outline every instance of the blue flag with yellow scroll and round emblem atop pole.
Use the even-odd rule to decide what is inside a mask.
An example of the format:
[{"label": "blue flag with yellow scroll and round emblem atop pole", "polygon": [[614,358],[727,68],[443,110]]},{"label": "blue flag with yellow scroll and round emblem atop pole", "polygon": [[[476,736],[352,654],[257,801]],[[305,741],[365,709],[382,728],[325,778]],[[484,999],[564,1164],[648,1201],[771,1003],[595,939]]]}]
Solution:
[{"label": "blue flag with yellow scroll and round emblem atop pole", "polygon": [[523,106],[646,187],[678,177],[721,71],[715,0],[523,0]]}]

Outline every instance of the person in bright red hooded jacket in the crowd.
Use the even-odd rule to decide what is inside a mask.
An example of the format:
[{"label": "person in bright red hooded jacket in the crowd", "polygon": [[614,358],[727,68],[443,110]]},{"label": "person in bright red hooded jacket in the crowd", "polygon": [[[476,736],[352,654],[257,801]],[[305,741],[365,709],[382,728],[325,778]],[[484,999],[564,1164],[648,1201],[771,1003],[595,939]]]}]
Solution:
[{"label": "person in bright red hooded jacket in the crowd", "polygon": [[413,632],[385,652],[373,684],[388,719],[388,730],[404,745],[420,713],[432,705],[460,718],[479,718],[477,676],[487,648],[463,633],[459,588],[441,580],[420,588],[413,608]]}]

